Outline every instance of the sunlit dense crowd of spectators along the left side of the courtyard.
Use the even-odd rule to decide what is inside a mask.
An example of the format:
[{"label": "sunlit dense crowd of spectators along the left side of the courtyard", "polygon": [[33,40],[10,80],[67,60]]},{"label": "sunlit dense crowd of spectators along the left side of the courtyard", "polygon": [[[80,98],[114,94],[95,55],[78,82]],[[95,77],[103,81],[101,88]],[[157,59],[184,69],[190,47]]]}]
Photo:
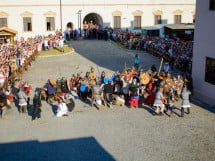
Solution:
[{"label": "sunlit dense crowd of spectators along the left side of the courtyard", "polygon": [[[31,65],[30,59],[33,54],[41,50],[56,48],[62,43],[62,32],[56,30],[55,34],[48,36],[35,36],[15,40],[14,44],[9,41],[0,43],[0,85],[3,85],[12,73],[11,67],[15,68]],[[28,62],[28,64],[25,64]]]}]

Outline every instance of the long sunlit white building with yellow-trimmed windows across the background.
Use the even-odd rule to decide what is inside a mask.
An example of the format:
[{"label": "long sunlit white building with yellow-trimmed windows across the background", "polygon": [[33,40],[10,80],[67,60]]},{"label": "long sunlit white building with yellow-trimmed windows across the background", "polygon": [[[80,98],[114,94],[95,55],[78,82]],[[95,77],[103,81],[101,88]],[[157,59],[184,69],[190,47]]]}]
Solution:
[{"label": "long sunlit white building with yellow-trimmed windows across the background", "polygon": [[[0,0],[0,27],[18,37],[79,28],[85,20],[102,27],[140,32],[155,24],[192,23],[195,0]],[[82,25],[81,25],[82,27]]]}]

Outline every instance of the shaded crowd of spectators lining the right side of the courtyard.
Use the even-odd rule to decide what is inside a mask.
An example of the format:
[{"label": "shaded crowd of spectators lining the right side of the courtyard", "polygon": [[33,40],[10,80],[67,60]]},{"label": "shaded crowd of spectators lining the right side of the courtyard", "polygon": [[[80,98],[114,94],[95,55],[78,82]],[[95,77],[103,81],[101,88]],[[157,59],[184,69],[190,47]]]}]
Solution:
[{"label": "shaded crowd of spectators lining the right side of the courtyard", "polygon": [[131,50],[144,50],[154,56],[163,58],[171,69],[191,73],[193,41],[181,39],[145,36],[128,31],[113,31],[111,40]]}]

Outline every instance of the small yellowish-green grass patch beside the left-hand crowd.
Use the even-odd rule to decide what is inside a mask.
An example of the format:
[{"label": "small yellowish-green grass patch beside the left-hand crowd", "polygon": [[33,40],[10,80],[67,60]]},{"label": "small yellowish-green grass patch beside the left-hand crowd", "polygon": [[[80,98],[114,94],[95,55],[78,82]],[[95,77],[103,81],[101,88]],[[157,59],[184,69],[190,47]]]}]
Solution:
[{"label": "small yellowish-green grass patch beside the left-hand crowd", "polygon": [[64,52],[61,52],[59,47],[57,47],[56,49],[52,48],[50,50],[40,51],[39,56],[60,55],[60,54],[68,53],[70,51],[72,51],[72,48],[69,47],[68,45],[64,45]]}]

